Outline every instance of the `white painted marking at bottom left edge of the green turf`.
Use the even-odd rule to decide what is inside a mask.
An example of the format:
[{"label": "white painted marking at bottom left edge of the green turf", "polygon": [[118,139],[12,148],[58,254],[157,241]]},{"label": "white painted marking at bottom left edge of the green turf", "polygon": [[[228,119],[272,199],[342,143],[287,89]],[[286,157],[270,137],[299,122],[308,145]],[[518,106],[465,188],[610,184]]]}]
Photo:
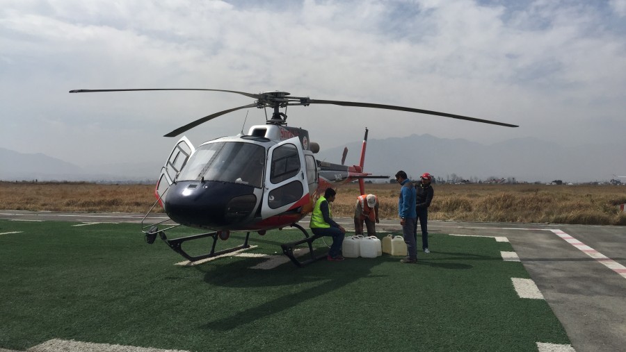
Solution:
[{"label": "white painted marking at bottom left edge of the green turf", "polygon": [[31,347],[29,352],[188,352],[174,349],[153,349],[152,347],[123,346],[120,344],[93,344],[91,342],[53,339]]}]

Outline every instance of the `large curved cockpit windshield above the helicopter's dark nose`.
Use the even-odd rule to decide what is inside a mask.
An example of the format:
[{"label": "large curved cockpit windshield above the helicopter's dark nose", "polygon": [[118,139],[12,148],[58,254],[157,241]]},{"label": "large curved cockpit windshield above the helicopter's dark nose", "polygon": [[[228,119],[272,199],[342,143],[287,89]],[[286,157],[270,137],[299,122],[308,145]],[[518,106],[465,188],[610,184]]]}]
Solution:
[{"label": "large curved cockpit windshield above the helicopter's dark nose", "polygon": [[177,181],[225,181],[260,188],[263,182],[265,148],[242,142],[204,144],[195,150]]}]

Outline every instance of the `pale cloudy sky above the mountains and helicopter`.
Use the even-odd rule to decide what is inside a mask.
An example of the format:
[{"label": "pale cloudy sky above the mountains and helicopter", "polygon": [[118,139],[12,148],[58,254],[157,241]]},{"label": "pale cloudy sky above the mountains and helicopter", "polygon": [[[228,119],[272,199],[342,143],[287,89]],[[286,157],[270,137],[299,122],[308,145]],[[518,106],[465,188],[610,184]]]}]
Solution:
[{"label": "pale cloudy sky above the mountains and helicopter", "polygon": [[[164,161],[165,133],[282,90],[492,119],[291,107],[322,148],[429,133],[492,144],[623,142],[626,0],[0,0],[0,147],[77,165]],[[194,144],[264,124],[238,110]],[[623,152],[623,151],[622,151]],[[619,172],[619,171],[618,171]]]}]

